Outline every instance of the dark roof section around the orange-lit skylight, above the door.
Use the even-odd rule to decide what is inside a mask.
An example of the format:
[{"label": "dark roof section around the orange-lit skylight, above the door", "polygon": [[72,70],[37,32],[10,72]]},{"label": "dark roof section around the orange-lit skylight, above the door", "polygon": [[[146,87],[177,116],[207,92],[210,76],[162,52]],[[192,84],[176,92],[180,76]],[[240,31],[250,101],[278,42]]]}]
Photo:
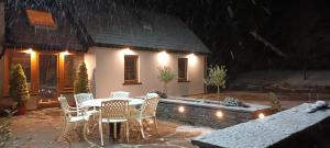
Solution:
[{"label": "dark roof section around the orange-lit skylight, above the door", "polygon": [[[6,10],[6,39],[7,46],[36,47],[43,50],[74,50],[86,52],[81,39],[78,37],[77,27],[73,25],[67,13],[57,5],[43,3],[38,7],[20,1],[16,7],[7,3]],[[42,3],[42,2],[40,2]],[[36,27],[30,24],[26,9],[35,9],[52,13],[56,29]]]}]

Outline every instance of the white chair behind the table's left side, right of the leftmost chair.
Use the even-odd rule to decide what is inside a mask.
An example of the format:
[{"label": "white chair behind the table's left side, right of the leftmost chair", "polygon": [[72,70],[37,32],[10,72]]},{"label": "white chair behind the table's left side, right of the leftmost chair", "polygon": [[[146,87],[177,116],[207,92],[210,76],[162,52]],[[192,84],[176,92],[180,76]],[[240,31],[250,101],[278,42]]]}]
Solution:
[{"label": "white chair behind the table's left side, right of the leftmost chair", "polygon": [[[94,100],[94,96],[91,93],[78,93],[78,94],[75,94],[74,96],[75,96],[77,110],[86,109],[86,106],[82,104],[82,102],[88,101],[88,100]],[[87,114],[91,114],[91,115],[95,115],[97,113],[98,113],[98,111],[96,110],[96,107],[94,107],[90,111],[89,110],[87,111]]]}]

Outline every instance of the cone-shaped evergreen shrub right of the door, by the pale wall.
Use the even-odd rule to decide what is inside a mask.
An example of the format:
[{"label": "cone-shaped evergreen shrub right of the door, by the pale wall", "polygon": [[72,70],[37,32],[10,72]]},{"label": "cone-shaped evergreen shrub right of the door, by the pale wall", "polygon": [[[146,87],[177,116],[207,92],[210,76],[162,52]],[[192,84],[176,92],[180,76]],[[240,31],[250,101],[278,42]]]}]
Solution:
[{"label": "cone-shaped evergreen shrub right of the door, by the pale wall", "polygon": [[79,69],[76,73],[74,92],[76,94],[89,92],[87,68],[84,61],[79,65]]}]

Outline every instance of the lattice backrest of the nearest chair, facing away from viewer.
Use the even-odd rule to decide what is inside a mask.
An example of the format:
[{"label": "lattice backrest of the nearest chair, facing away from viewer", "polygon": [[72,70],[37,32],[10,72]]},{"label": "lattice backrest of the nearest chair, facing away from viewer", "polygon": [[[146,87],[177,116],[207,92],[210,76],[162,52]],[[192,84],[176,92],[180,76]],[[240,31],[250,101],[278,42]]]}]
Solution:
[{"label": "lattice backrest of the nearest chair, facing away from viewer", "polygon": [[111,100],[102,102],[100,118],[127,119],[129,116],[129,101]]}]

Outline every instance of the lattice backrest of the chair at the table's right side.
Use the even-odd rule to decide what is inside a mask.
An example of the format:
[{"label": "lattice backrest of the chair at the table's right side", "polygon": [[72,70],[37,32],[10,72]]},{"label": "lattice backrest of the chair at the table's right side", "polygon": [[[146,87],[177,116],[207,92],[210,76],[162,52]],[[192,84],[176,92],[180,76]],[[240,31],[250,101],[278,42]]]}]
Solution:
[{"label": "lattice backrest of the chair at the table's right side", "polygon": [[141,106],[141,117],[153,117],[156,115],[160,98],[146,98]]}]

